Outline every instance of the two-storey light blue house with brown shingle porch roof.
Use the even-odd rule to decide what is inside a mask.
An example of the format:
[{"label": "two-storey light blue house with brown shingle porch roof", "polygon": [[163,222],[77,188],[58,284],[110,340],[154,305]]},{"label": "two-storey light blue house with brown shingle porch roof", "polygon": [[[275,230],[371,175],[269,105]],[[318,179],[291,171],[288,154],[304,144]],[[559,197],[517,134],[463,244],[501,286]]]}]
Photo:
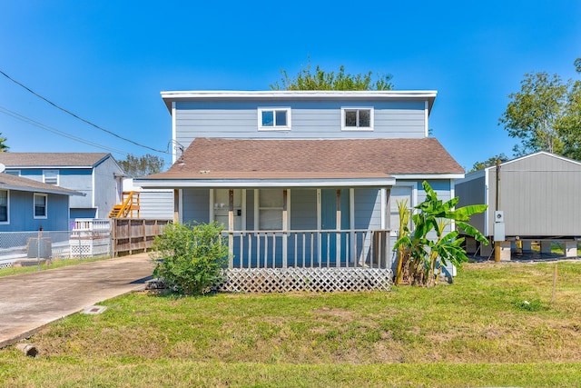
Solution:
[{"label": "two-storey light blue house with brown shingle porch roof", "polygon": [[464,176],[428,137],[436,95],[162,92],[174,164],[135,184],[173,189],[176,221],[224,224],[230,274],[269,268],[276,283],[300,268],[323,273],[308,282],[324,283],[330,269],[349,270],[349,279],[389,271],[397,203],[419,204],[424,180],[446,201]]}]

